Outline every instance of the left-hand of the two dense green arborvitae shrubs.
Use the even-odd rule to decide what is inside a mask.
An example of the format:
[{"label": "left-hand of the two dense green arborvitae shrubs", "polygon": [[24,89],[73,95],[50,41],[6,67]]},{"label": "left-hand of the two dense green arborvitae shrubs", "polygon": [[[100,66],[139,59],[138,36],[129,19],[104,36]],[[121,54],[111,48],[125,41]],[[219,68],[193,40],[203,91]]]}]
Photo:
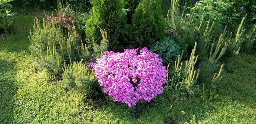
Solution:
[{"label": "left-hand of the two dense green arborvitae shrubs", "polygon": [[121,37],[120,32],[125,24],[124,12],[122,10],[122,0],[92,0],[92,10],[90,18],[86,23],[86,35],[89,48],[93,45],[93,40],[100,43],[101,35],[100,26],[108,32],[110,50],[121,48],[118,39]]}]

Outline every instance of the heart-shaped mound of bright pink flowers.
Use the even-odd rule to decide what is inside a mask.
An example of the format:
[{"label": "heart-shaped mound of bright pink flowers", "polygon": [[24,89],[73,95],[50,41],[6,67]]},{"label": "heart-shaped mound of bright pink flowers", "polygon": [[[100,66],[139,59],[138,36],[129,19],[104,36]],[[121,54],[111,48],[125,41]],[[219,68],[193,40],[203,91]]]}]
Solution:
[{"label": "heart-shaped mound of bright pink flowers", "polygon": [[95,76],[104,92],[115,102],[129,107],[150,100],[164,91],[166,67],[162,59],[147,48],[126,49],[122,53],[105,52],[93,65]]}]

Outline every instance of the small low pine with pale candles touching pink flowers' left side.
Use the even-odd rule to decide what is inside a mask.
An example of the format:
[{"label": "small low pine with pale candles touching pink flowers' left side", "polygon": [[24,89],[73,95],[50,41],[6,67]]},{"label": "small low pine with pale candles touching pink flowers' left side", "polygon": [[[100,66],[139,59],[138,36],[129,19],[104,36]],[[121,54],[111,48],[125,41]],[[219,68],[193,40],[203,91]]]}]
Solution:
[{"label": "small low pine with pale candles touching pink flowers' left side", "polygon": [[91,94],[94,91],[97,84],[94,72],[83,64],[82,60],[68,66],[64,64],[63,72],[63,81],[68,89],[78,88],[85,94]]}]

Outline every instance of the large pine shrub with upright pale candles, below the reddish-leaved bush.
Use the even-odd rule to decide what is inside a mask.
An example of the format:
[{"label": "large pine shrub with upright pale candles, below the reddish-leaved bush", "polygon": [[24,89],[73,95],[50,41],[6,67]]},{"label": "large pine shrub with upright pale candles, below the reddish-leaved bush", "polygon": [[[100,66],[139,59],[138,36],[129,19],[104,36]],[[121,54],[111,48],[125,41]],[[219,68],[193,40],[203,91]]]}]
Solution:
[{"label": "large pine shrub with upright pale candles, below the reddish-leaved bush", "polygon": [[[68,31],[68,35],[62,29],[56,27],[56,23],[43,20],[43,28],[38,19],[34,20],[34,32],[30,31],[31,52],[36,60],[38,68],[58,72],[64,66],[64,62],[80,60],[80,54],[87,52],[81,50],[81,37],[76,32],[76,26]],[[84,58],[86,59],[86,58]]]}]

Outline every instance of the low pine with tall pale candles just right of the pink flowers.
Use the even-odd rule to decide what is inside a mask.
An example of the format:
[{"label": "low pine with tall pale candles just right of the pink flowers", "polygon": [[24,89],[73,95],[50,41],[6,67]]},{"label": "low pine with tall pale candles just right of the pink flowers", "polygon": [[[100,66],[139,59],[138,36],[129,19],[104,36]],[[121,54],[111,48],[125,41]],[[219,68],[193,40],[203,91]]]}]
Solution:
[{"label": "low pine with tall pale candles just right of the pink flowers", "polygon": [[[173,92],[178,94],[194,95],[198,91],[197,82],[212,84],[221,80],[223,66],[221,66],[218,73],[214,72],[217,67],[216,64],[210,62],[198,62],[196,56],[197,42],[195,42],[194,48],[190,54],[190,58],[186,61],[182,61],[183,53],[178,56],[178,60],[174,62],[174,66],[168,65],[168,84],[165,86],[166,97],[170,97]],[[199,63],[199,67],[197,67]],[[210,67],[209,67],[210,66]]]}]

